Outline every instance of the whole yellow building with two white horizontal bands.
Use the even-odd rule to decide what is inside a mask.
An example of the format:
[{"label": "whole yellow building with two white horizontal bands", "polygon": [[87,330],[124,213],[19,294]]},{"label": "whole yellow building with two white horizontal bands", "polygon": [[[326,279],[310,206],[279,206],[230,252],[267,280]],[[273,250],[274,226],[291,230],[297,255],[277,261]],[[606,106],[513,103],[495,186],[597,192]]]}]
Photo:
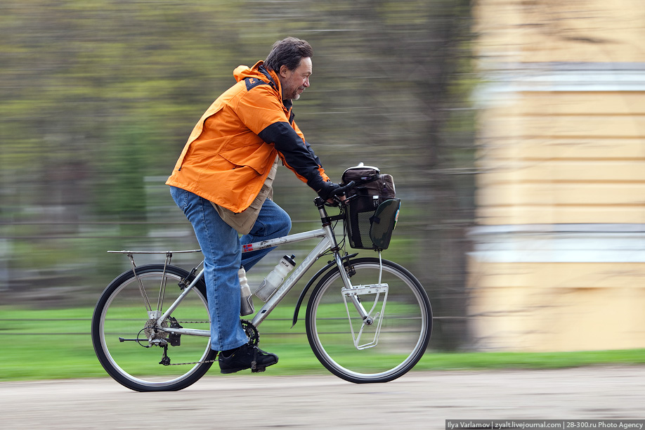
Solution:
[{"label": "whole yellow building with two white horizontal bands", "polygon": [[645,348],[645,1],[482,0],[472,333]]}]

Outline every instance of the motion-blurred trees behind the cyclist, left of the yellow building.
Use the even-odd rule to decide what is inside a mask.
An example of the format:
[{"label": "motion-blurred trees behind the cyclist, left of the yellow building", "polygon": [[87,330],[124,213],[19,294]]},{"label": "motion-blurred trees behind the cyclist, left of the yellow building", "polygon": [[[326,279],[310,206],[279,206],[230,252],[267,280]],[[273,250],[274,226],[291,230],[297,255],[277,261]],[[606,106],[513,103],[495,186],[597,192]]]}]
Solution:
[{"label": "motion-blurred trees behind the cyclist, left of the yellow building", "polygon": [[[91,309],[129,267],[107,250],[196,248],[164,182],[233,69],[287,36],[314,48],[311,88],[294,105],[300,128],[334,181],[358,162],[394,176],[403,210],[385,257],[450,317],[435,346],[465,344],[469,1],[3,1],[1,304]],[[292,231],[315,226],[313,197],[280,169],[275,200]]]}]

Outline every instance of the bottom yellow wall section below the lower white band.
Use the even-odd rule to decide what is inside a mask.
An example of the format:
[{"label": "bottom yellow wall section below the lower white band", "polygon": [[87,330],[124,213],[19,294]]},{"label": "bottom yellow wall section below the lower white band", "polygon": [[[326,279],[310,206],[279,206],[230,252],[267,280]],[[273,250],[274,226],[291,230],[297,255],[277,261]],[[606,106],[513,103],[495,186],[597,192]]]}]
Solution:
[{"label": "bottom yellow wall section below the lower white band", "polygon": [[645,263],[472,261],[474,346],[495,351],[643,348]]}]

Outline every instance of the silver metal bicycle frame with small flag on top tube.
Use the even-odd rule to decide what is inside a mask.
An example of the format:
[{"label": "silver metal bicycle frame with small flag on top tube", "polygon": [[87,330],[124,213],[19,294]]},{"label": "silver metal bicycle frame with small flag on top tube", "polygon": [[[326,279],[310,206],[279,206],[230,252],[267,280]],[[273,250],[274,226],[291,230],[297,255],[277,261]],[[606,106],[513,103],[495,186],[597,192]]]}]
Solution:
[{"label": "silver metal bicycle frame with small flag on top tube", "polygon": [[[325,214],[325,209],[320,209],[321,216],[326,216]],[[296,233],[293,235],[287,235],[283,237],[278,237],[275,239],[270,239],[270,240],[262,240],[261,242],[254,242],[249,245],[245,245],[244,249],[242,252],[251,252],[251,251],[257,251],[259,249],[266,249],[266,248],[272,248],[272,247],[277,247],[280,245],[289,245],[295,242],[301,242],[303,240],[310,240],[314,239],[316,237],[320,237],[321,240],[318,243],[318,245],[315,246],[314,249],[305,257],[305,259],[294,269],[294,271],[289,275],[287,279],[285,279],[284,282],[282,282],[282,285],[278,290],[271,296],[270,299],[262,306],[262,308],[254,315],[254,318],[252,319],[252,324],[254,326],[258,326],[262,323],[262,321],[268,316],[271,311],[275,308],[275,306],[278,306],[280,301],[284,299],[284,297],[287,295],[289,291],[297,284],[297,282],[302,278],[304,273],[308,271],[311,266],[313,266],[313,263],[317,261],[320,256],[323,256],[325,252],[328,250],[336,247],[336,238],[334,236],[334,230],[332,229],[332,226],[327,225],[323,226],[323,228],[319,228],[318,230],[310,230],[306,231],[303,233]],[[338,252],[334,252],[334,256],[336,259],[337,266],[339,268],[339,271],[341,273],[341,278],[343,279],[344,285],[346,289],[351,289],[353,288],[351,285],[351,281],[349,280],[349,277],[347,276],[346,272],[343,269],[343,263],[341,261],[341,257]],[[193,282],[190,282],[190,285],[188,287],[185,287],[183,292],[177,297],[177,299],[174,301],[171,306],[167,309],[167,311],[159,316],[158,321],[157,321],[157,328],[159,330],[163,330],[165,332],[171,332],[175,334],[188,334],[192,336],[204,336],[204,337],[209,337],[211,335],[209,330],[197,330],[197,329],[185,329],[185,328],[170,328],[170,327],[161,327],[161,323],[166,320],[169,315],[181,304],[181,301],[183,298],[190,292],[195,285],[197,285],[197,282],[204,276],[204,269],[202,268],[202,271],[195,276],[195,279]],[[358,301],[356,295],[352,295],[349,297],[353,305],[356,307],[356,310],[358,311],[359,315],[361,318],[365,320],[367,318],[367,311],[365,311],[365,308],[363,307],[362,304],[360,304],[360,301]]]}]

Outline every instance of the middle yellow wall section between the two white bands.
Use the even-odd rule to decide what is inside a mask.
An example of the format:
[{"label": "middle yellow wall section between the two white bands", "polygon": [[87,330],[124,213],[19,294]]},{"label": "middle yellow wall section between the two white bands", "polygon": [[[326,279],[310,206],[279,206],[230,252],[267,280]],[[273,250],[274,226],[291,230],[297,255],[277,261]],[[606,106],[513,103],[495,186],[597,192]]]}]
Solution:
[{"label": "middle yellow wall section between the two white bands", "polygon": [[478,223],[645,223],[645,92],[516,97],[479,119]]}]

